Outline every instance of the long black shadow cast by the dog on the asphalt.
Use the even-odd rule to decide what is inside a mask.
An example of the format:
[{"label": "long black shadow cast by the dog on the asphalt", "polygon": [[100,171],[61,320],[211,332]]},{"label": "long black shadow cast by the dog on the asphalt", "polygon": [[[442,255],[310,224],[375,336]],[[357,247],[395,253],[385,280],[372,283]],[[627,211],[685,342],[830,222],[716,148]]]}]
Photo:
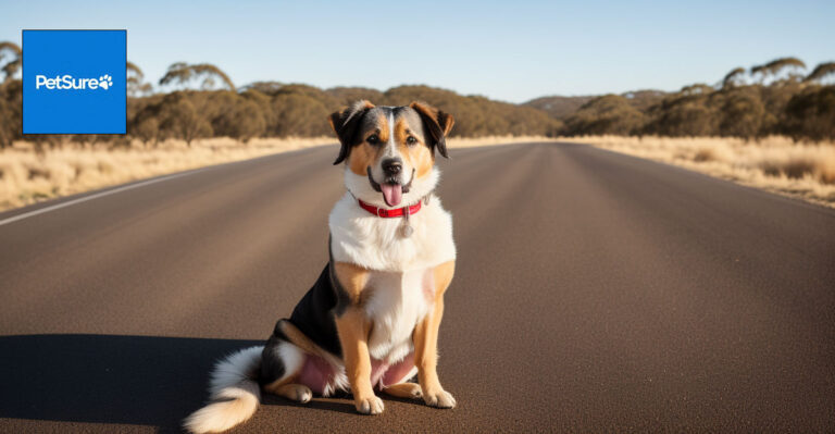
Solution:
[{"label": "long black shadow cast by the dog on the asphalt", "polygon": [[[179,432],[207,399],[215,360],[260,340],[117,335],[0,336],[0,418]],[[265,396],[265,405],[296,406]],[[306,407],[353,412],[349,402]]]}]

